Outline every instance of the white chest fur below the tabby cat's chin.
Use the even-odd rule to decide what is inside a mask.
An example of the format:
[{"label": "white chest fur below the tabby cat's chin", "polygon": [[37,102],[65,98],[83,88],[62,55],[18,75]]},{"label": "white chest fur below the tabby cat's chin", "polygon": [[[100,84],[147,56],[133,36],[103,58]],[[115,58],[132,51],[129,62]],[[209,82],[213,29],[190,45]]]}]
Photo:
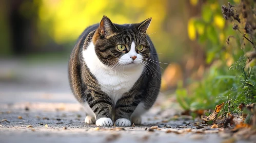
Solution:
[{"label": "white chest fur below the tabby cat's chin", "polygon": [[102,91],[112,99],[115,104],[125,92],[128,92],[134,83],[140,78],[143,72],[143,66],[134,65],[134,67],[123,70],[122,67],[116,72],[113,68],[104,65],[94,50],[91,42],[87,49],[83,51],[83,57],[90,72],[95,76]]}]

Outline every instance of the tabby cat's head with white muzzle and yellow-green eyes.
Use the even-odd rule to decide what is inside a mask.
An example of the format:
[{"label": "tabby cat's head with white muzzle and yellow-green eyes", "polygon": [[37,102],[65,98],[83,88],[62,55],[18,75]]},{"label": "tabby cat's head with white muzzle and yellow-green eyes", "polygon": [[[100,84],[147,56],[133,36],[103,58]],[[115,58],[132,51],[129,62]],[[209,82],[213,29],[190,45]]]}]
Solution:
[{"label": "tabby cat's head with white muzzle and yellow-green eyes", "polygon": [[117,25],[103,16],[92,38],[95,53],[108,67],[134,67],[144,65],[150,55],[146,30],[151,18],[141,23]]}]

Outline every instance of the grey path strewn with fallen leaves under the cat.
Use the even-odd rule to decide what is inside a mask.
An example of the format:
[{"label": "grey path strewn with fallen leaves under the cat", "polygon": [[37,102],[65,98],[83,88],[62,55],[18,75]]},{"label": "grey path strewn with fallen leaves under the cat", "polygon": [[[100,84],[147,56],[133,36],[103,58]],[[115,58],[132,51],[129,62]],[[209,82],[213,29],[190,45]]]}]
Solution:
[{"label": "grey path strewn with fallen leaves under the cat", "polygon": [[[72,96],[67,62],[0,61],[0,142],[255,142],[230,133],[195,126],[180,116],[174,97],[161,93],[143,116],[143,125],[86,125],[82,106]],[[154,129],[149,129],[152,126]],[[157,129],[156,129],[157,128]]]}]

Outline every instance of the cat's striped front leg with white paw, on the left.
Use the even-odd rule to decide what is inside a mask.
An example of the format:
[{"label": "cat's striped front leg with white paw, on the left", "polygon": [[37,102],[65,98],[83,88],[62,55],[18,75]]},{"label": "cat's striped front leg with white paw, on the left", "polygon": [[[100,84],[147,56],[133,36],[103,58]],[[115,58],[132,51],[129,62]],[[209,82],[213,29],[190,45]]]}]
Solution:
[{"label": "cat's striped front leg with white paw, on the left", "polygon": [[[112,126],[113,122],[111,120],[112,115],[112,101],[111,99],[104,94],[102,91],[92,90],[86,93],[86,101],[94,113],[96,126]],[[92,119],[92,116],[89,115],[86,117],[88,122]],[[87,121],[86,121],[87,122]]]}]

